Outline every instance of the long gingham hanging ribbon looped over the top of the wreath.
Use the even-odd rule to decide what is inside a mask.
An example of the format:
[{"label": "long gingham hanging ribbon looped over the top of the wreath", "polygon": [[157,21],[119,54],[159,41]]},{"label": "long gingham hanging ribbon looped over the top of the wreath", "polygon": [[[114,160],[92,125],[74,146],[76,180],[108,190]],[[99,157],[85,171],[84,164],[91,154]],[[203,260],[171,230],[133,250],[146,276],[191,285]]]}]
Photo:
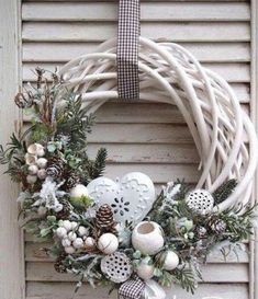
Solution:
[{"label": "long gingham hanging ribbon looped over the top of the wreath", "polygon": [[119,97],[138,99],[139,0],[120,0],[116,53]]}]

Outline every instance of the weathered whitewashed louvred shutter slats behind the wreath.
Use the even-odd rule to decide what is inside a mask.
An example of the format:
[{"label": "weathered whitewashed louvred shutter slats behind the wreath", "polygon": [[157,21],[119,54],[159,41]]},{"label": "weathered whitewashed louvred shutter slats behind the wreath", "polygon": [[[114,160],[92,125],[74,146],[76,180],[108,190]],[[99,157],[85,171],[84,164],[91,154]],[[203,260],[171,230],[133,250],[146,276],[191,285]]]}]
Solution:
[{"label": "weathered whitewashed louvred shutter slats behind the wreath", "polygon": [[[34,80],[32,69],[36,66],[54,69],[115,36],[116,15],[117,1],[23,1],[23,81]],[[203,65],[232,83],[243,107],[249,110],[249,1],[142,1],[142,35],[190,49]],[[105,104],[98,112],[89,141],[91,153],[100,146],[109,150],[106,174],[111,177],[142,171],[160,187],[177,177],[194,183],[200,175],[190,133],[178,110],[169,105]],[[30,235],[25,238],[26,299],[71,298],[75,278],[54,271],[53,261],[40,251],[44,245]],[[204,280],[193,297],[178,287],[172,287],[168,297],[251,298],[253,265],[254,258],[244,252],[239,252],[238,260],[232,254],[226,263],[220,254],[214,255],[203,268]],[[89,286],[77,296],[109,298],[105,289],[91,290]]]}]

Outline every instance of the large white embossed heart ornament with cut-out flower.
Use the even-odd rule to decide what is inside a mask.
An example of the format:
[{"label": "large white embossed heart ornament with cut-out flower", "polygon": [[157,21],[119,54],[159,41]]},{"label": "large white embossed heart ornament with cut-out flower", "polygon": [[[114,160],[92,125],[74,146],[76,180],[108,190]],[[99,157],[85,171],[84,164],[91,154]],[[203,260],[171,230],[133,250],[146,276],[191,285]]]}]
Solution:
[{"label": "large white embossed heart ornament with cut-out flower", "polygon": [[101,176],[92,180],[87,188],[98,206],[108,204],[112,207],[119,222],[142,221],[155,202],[154,183],[142,172],[127,173],[116,182]]}]

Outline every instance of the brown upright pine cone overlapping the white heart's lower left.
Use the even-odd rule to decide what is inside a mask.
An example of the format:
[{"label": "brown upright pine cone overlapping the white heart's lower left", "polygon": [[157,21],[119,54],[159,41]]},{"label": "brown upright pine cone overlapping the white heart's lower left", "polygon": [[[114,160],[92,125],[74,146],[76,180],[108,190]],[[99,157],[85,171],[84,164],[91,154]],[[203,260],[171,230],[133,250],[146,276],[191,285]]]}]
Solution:
[{"label": "brown upright pine cone overlapping the white heart's lower left", "polygon": [[115,231],[113,211],[109,205],[102,205],[96,211],[96,227],[101,233]]}]

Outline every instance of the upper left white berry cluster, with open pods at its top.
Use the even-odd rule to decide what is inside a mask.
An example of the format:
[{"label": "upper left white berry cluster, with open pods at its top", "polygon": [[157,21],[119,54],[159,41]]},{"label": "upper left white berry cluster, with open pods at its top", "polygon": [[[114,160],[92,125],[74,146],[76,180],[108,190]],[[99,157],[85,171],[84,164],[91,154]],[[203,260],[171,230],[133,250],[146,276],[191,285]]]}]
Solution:
[{"label": "upper left white berry cluster, with open pods at its top", "polygon": [[44,156],[45,149],[40,143],[32,143],[27,148],[25,161],[29,171],[29,175],[26,176],[26,181],[29,184],[35,184],[37,179],[46,179],[47,160],[44,158]]}]

